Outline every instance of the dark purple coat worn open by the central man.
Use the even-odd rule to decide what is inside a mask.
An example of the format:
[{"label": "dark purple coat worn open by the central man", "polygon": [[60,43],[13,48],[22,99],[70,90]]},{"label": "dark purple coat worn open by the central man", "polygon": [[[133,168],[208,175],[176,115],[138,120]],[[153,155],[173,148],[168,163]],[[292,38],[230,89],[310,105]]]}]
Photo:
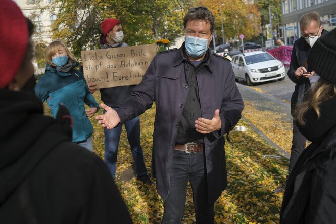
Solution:
[{"label": "dark purple coat worn open by the central man", "polygon": [[[159,195],[168,195],[178,123],[188,95],[185,73],[188,72],[184,44],[179,49],[156,55],[132,96],[117,109],[121,123],[142,114],[155,101],[152,172]],[[197,72],[201,113],[212,119],[220,109],[222,128],[204,135],[208,199],[214,202],[226,188],[224,133],[241,118],[244,103],[235,84],[232,66],[227,59],[210,54],[206,66]]]}]

